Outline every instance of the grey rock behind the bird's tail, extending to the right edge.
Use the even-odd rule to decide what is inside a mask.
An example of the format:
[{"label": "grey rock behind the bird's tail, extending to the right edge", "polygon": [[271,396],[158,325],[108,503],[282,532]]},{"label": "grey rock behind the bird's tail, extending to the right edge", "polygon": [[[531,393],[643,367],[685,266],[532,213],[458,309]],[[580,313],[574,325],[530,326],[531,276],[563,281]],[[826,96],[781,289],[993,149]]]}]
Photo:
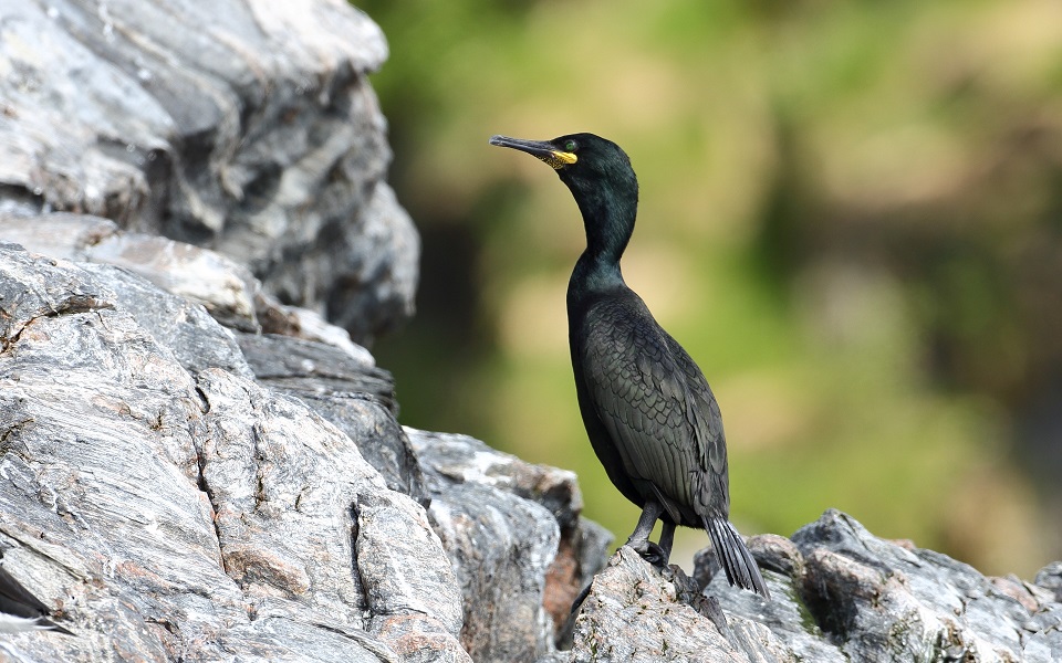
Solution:
[{"label": "grey rock behind the bird's tail, extending to the right edge", "polygon": [[750,549],[767,569],[771,603],[733,590],[718,572],[706,591],[728,618],[768,627],[801,660],[1053,661],[1062,654],[1062,606],[1045,589],[986,578],[939,552],[877,538],[841,512],[827,511],[792,543],[753,537]]}]

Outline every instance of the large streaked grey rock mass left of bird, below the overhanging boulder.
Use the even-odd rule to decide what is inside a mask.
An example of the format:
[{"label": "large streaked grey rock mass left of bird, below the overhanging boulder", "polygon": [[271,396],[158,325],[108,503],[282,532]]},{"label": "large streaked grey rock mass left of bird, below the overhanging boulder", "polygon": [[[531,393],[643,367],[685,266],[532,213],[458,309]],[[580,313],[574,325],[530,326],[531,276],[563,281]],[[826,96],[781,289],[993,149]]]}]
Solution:
[{"label": "large streaked grey rock mass left of bird, below the overhanging boulder", "polygon": [[604,557],[570,473],[402,429],[364,349],[14,244],[0,306],[0,546],[77,633],[29,660],[534,659]]}]

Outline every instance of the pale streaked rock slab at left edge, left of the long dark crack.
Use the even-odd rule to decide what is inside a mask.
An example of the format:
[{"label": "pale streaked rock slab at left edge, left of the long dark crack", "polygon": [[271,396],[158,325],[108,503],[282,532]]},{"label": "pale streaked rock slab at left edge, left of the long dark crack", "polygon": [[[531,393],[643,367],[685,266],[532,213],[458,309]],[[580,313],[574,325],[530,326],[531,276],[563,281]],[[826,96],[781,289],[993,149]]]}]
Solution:
[{"label": "pale streaked rock slab at left edge, left of the long dark crack", "polygon": [[[65,597],[73,630],[94,648],[166,660],[184,639],[206,638],[212,620],[247,621],[197,485],[195,380],[106,284],[75,265],[2,252],[7,564],[33,558],[48,596]],[[107,609],[116,603],[126,609]],[[179,636],[147,619],[160,614],[175,615]],[[24,644],[42,660],[92,660],[75,639]]]}]

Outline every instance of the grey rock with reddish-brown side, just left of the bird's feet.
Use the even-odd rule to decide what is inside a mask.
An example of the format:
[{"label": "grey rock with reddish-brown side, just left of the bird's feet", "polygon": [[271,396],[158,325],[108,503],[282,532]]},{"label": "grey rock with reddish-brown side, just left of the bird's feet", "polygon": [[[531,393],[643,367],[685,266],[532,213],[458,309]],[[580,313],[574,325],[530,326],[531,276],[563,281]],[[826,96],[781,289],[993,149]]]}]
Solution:
[{"label": "grey rock with reddish-brown side, just left of the bird's feet", "polygon": [[466,435],[407,431],[461,583],[466,651],[478,661],[549,660],[611,540],[580,518],[575,476]]}]

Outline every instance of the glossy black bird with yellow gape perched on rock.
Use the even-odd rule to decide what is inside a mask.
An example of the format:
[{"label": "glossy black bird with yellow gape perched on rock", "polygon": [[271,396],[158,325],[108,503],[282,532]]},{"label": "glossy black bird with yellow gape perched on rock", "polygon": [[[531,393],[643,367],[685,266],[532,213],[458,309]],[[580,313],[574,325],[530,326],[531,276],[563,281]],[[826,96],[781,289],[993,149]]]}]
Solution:
[{"label": "glossy black bird with yellow gape perched on rock", "polygon": [[[730,585],[770,598],[729,522],[727,442],[716,397],[620,272],[638,207],[631,159],[593,134],[552,140],[494,136],[490,144],[552,166],[583,215],[586,250],[568,286],[572,368],[594,452],[616,488],[642,507],[627,545],[666,566],[675,527],[702,527]],[[657,519],[664,529],[654,544],[649,535]]]}]

